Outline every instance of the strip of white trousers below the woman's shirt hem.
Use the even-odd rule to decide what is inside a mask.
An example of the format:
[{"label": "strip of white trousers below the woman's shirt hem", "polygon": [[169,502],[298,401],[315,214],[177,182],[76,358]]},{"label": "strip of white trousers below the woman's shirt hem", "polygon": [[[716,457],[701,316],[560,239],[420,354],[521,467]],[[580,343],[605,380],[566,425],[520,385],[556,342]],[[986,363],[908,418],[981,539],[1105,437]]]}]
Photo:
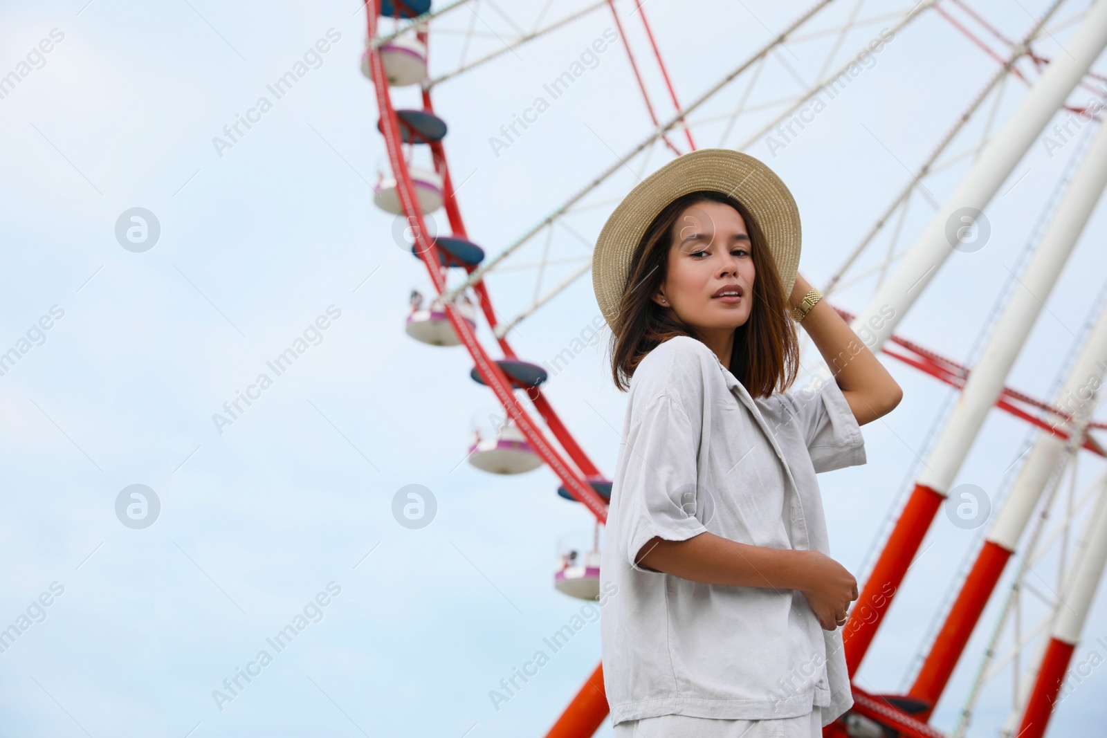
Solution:
[{"label": "strip of white trousers below the woman's shirt hem", "polygon": [[614,738],[823,738],[823,710],[772,720],[661,715],[620,723]]}]

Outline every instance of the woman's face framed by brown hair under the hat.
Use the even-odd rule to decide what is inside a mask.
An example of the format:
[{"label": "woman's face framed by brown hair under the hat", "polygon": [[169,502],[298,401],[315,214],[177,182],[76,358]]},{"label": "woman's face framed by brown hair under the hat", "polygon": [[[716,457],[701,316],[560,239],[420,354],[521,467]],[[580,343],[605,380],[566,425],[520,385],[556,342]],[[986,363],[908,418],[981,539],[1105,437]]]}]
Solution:
[{"label": "woman's face framed by brown hair under the hat", "polygon": [[690,205],[670,239],[669,270],[654,302],[707,334],[745,324],[753,309],[754,260],[738,211],[724,202]]}]

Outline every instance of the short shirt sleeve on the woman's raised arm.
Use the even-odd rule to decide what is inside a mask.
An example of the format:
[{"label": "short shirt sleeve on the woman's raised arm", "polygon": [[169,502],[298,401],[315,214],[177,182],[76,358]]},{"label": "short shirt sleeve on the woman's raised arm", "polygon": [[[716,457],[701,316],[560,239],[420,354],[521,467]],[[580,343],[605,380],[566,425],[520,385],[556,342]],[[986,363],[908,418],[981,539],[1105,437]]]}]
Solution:
[{"label": "short shirt sleeve on the woman's raised arm", "polygon": [[816,472],[866,462],[861,427],[834,377],[814,389],[785,392],[775,399],[777,404],[769,407],[777,424],[798,424]]}]

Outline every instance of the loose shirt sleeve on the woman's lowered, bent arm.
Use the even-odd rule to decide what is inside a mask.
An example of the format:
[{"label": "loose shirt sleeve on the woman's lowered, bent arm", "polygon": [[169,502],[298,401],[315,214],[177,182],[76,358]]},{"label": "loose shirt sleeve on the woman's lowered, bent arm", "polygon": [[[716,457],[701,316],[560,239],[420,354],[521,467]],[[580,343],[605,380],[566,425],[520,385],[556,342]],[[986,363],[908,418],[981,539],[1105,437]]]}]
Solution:
[{"label": "loose shirt sleeve on the woman's lowered, bent arm", "polygon": [[701,429],[669,395],[651,401],[633,418],[623,447],[621,485],[617,498],[620,544],[630,565],[650,539],[683,541],[706,531],[696,517],[701,499],[696,485]]}]

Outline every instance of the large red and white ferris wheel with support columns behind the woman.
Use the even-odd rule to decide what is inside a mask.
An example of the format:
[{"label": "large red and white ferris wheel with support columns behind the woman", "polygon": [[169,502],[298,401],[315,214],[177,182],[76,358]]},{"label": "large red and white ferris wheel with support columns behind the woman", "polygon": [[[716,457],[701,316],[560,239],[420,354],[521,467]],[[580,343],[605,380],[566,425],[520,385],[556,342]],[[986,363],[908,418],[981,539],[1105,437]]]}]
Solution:
[{"label": "large red and white ferris wheel with support columns behind the woman", "polygon": [[[831,298],[850,285],[870,285],[863,311],[851,314],[838,309],[839,313],[873,352],[881,351],[953,387],[960,396],[951,413],[935,418],[934,443],[921,465],[925,468],[911,472],[913,479],[888,516],[886,530],[873,541],[866,575],[858,576],[863,590],[844,626],[851,677],[898,590],[910,583],[908,569],[939,510],[953,510],[954,524],[958,516],[979,522],[983,514],[987,522],[981,523],[979,543],[962,562],[962,571],[952,582],[942,583],[944,599],[938,603],[914,663],[904,665],[909,667],[904,684],[878,692],[855,679],[853,707],[827,726],[825,735],[964,736],[981,690],[1003,677],[1013,682],[1003,734],[1020,738],[1045,734],[1052,713],[1072,687],[1066,673],[1107,565],[1107,475],[1083,489],[1077,484],[1082,458],[1107,456],[1094,434],[1107,424],[1093,417],[1107,374],[1107,292],[1101,290],[1089,301],[1066,368],[1056,377],[1054,397],[1035,398],[1006,384],[1044,308],[1035,295],[1048,295],[1053,289],[1107,184],[1107,127],[1099,123],[1099,113],[1107,106],[1107,77],[1093,71],[1107,46],[1107,0],[1069,6],[1063,0],[1052,2],[1028,19],[1022,37],[1012,38],[962,0],[922,0],[910,7],[819,0],[790,22],[773,28],[773,38],[761,48],[734,53],[732,69],[705,90],[695,91],[694,98],[685,98],[665,66],[663,39],[648,20],[650,8],[639,0],[557,3],[560,14],[556,18],[548,18],[554,3],[546,2],[529,29],[492,0],[458,0],[434,8],[431,0],[366,3],[362,72],[374,89],[380,112],[376,129],[390,168],[374,186],[374,204],[395,216],[431,283],[430,295],[418,287],[412,290],[405,331],[425,344],[464,347],[474,362],[472,381],[487,386],[504,408],[493,436],[475,433],[469,462],[500,475],[548,466],[561,482],[557,493],[581,505],[593,519],[591,543],[566,547],[554,567],[551,583],[558,591],[583,600],[599,596],[599,527],[607,519],[611,481],[544,394],[548,370],[518,356],[508,335],[587,278],[591,259],[581,256],[580,245],[590,247],[594,231],[580,232],[581,224],[594,226],[594,214],[610,208],[633,184],[627,175],[648,171],[656,157],[679,156],[708,139],[711,145],[737,150],[755,144],[769,152],[788,146],[829,100],[855,83],[891,39],[912,33],[920,18],[937,17],[966,46],[994,60],[994,73],[980,80],[979,92],[964,110],[945,113],[944,135],[933,142],[921,165],[909,169],[902,187],[888,193],[871,228],[842,252],[825,289]],[[580,60],[550,80],[545,94],[556,98],[575,84],[588,73],[589,59],[622,53],[631,71],[628,83],[641,95],[650,133],[612,150],[610,164],[597,165],[576,191],[546,209],[545,216],[507,246],[490,249],[478,243],[465,228],[457,196],[465,183],[452,177],[444,146],[447,118],[464,111],[435,111],[434,91],[443,84],[464,83],[467,75],[480,74],[484,65],[536,39],[571,34],[576,22],[594,13],[608,14],[613,32],[590,39]],[[1037,51],[1042,39],[1062,33],[1069,37],[1063,53],[1046,58]],[[451,55],[456,52],[452,66],[437,63],[446,58],[439,48]],[[794,53],[799,48],[811,51],[800,59]],[[790,79],[790,87],[782,86],[782,79]],[[1012,115],[999,119],[1000,102],[1010,85],[1022,85],[1027,92]],[[793,92],[782,94],[785,89]],[[399,106],[394,97],[408,102]],[[493,150],[511,146],[542,115],[540,100],[548,102],[539,95],[501,126],[489,139]],[[1047,129],[1058,111],[1078,117],[1079,125],[1063,122]],[[1008,291],[996,303],[990,323],[981,329],[973,366],[897,335],[896,326],[950,253],[981,248],[981,239],[986,240],[989,202],[1043,133],[1054,137],[1058,149],[1066,149],[1069,163],[1043,205],[1041,227],[1027,237],[1022,277],[1015,278],[1026,290]],[[1067,146],[1070,141],[1076,144]],[[451,139],[451,144],[484,142]],[[1048,141],[1045,145],[1048,148]],[[966,160],[971,162],[966,174],[945,201],[939,201],[927,183]],[[914,241],[904,245],[908,212],[920,202],[934,212]],[[438,232],[434,225],[439,211],[445,214],[448,233],[445,228]],[[501,311],[494,306],[489,284],[507,272],[514,281],[532,280],[534,298],[529,304]],[[482,318],[501,358],[493,358],[477,339]],[[1032,443],[1012,465],[1002,500],[982,512],[981,496],[972,486],[954,481],[993,409],[1025,422]],[[1059,557],[1061,565],[1056,581],[1042,588],[1028,581],[1027,573],[1046,557]],[[1004,572],[1010,580],[1005,580],[1006,591],[1000,586]],[[1001,612],[984,622],[991,601],[1002,604]],[[982,653],[968,648],[976,630],[989,633]],[[966,694],[953,695],[946,687],[962,662],[972,664],[975,676]],[[546,735],[593,735],[608,714],[602,689],[601,665],[586,676],[583,687]],[[943,698],[956,701],[960,713],[955,725],[939,730],[930,718]]]}]

